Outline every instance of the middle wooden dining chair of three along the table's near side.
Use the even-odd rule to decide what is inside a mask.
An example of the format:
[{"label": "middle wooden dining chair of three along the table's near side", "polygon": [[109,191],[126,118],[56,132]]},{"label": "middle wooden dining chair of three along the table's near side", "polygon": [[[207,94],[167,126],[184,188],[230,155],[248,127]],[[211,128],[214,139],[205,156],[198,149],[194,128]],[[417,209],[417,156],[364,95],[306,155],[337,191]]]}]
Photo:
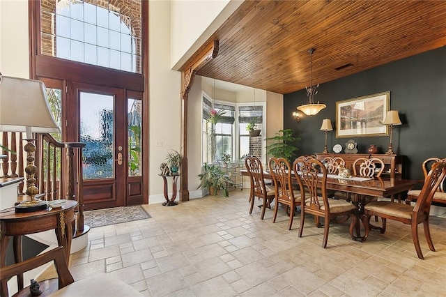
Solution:
[{"label": "middle wooden dining chair of three along the table's near side", "polygon": [[291,178],[293,176],[291,165],[285,158],[270,158],[268,167],[270,168],[272,181],[274,181],[274,184],[276,185],[275,208],[272,222],[276,222],[279,203],[286,205],[286,208],[290,210],[288,229],[291,230],[296,207],[300,205],[301,201],[300,190],[294,190],[293,183],[291,183]]}]

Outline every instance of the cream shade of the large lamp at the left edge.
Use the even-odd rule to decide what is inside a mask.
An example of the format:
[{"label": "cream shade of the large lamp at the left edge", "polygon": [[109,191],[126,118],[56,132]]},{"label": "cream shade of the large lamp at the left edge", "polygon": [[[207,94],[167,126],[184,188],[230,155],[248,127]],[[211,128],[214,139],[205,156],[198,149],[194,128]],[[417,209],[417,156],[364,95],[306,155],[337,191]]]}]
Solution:
[{"label": "cream shade of the large lamp at the left edge", "polygon": [[50,112],[43,82],[0,76],[0,131],[61,132]]}]

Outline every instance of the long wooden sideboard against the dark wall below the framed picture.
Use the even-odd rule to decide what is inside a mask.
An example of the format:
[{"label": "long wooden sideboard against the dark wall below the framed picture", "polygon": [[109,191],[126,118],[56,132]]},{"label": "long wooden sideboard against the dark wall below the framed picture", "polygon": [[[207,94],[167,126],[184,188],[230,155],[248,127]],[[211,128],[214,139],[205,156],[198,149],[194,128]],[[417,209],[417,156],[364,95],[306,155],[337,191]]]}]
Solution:
[{"label": "long wooden sideboard against the dark wall below the framed picture", "polygon": [[323,160],[325,157],[341,157],[346,161],[346,168],[350,169],[353,174],[353,162],[357,158],[378,158],[384,162],[385,168],[381,176],[389,176],[390,178],[403,178],[403,156],[402,155],[387,155],[368,153],[316,153],[318,160]]}]

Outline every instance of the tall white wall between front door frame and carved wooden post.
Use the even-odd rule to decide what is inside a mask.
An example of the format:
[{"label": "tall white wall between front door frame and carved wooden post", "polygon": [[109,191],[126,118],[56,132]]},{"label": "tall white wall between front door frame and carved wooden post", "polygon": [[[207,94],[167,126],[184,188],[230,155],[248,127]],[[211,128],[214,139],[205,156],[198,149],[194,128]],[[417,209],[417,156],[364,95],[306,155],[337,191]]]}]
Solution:
[{"label": "tall white wall between front door frame and carved wooden post", "polygon": [[180,151],[181,76],[170,70],[170,17],[170,1],[150,1],[149,203],[164,201],[162,178],[158,176],[160,164],[169,150]]}]

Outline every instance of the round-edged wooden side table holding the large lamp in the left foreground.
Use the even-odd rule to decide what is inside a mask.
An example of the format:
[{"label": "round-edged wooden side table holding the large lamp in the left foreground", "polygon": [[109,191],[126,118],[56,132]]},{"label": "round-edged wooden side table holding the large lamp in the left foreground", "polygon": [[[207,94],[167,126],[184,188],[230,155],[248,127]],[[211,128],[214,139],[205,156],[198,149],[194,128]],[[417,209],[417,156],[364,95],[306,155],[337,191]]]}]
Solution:
[{"label": "round-edged wooden side table holding the large lamp in the left foreground", "polygon": [[[22,236],[54,229],[57,243],[63,248],[68,266],[72,241],[72,222],[75,220],[77,201],[68,200],[59,208],[47,208],[31,213],[15,213],[15,208],[6,208],[0,213],[0,267],[6,266],[6,250],[13,238],[15,263],[23,261]],[[5,296],[8,284],[1,282],[0,295]],[[23,275],[17,275],[19,291],[23,289]]]}]

